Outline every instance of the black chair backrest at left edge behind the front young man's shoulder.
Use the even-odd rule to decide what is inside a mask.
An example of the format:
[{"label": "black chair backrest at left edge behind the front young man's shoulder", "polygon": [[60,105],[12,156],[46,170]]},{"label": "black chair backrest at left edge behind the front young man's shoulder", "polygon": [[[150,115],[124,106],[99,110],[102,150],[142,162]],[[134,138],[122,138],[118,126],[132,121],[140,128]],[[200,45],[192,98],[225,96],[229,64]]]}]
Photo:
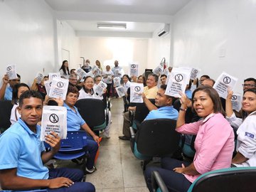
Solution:
[{"label": "black chair backrest at left edge behind the front young man's shoulder", "polygon": [[0,128],[6,130],[11,126],[10,117],[13,105],[9,100],[0,100]]}]

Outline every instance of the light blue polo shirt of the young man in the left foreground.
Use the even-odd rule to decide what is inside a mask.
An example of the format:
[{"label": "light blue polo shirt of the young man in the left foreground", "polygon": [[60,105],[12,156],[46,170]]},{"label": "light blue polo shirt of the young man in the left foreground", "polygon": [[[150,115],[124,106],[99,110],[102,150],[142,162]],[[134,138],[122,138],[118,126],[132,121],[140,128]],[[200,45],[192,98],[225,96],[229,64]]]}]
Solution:
[{"label": "light blue polo shirt of the young man in the left foreground", "polygon": [[21,118],[0,135],[0,169],[17,169],[17,176],[33,179],[47,179],[48,169],[43,166],[41,153],[45,151],[40,141],[41,127],[36,134]]}]

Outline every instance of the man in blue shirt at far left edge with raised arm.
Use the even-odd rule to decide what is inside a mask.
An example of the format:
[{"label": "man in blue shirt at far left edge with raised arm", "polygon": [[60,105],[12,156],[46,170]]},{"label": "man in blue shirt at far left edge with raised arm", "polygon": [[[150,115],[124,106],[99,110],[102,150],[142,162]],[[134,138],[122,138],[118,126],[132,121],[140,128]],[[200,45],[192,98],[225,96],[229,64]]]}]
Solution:
[{"label": "man in blue shirt at far left edge with raised arm", "polygon": [[[9,80],[8,75],[4,75],[3,85],[1,86],[1,89],[0,89],[0,100],[11,100],[14,85],[21,82],[21,75],[17,74],[17,77],[18,78],[16,79]],[[8,83],[10,85],[9,87],[7,87]]]}]

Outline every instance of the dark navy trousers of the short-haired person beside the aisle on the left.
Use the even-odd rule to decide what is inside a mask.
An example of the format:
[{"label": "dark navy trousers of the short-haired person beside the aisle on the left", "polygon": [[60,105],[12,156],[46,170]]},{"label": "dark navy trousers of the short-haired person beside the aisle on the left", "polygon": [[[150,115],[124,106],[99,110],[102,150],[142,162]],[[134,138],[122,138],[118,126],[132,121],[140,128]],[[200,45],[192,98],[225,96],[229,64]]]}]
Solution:
[{"label": "dark navy trousers of the short-haired person beside the aisle on the left", "polygon": [[87,169],[92,169],[98,148],[99,146],[97,142],[95,142],[95,140],[91,136],[87,135],[86,149],[89,151],[89,156],[87,158],[87,164],[86,164]]}]

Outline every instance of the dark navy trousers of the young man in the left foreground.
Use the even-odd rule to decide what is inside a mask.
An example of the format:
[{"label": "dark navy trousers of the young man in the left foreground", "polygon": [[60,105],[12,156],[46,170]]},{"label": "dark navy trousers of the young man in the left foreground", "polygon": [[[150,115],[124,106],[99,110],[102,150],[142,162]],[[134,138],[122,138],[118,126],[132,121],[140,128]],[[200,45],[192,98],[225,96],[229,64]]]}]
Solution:
[{"label": "dark navy trousers of the young man in the left foreground", "polygon": [[80,169],[49,169],[49,178],[65,177],[70,178],[71,181],[75,182],[70,187],[61,188],[48,188],[47,191],[53,192],[94,192],[95,186],[92,183],[81,182],[83,178],[83,172]]}]

